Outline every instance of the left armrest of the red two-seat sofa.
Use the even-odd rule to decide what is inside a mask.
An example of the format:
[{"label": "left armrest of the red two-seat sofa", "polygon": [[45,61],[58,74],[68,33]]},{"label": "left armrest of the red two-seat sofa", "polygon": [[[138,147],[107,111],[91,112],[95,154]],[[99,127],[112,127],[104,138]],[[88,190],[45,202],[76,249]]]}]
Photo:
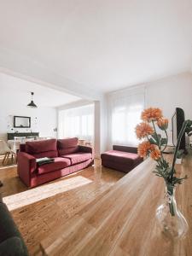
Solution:
[{"label": "left armrest of the red two-seat sofa", "polygon": [[17,172],[21,180],[30,187],[31,175],[36,171],[36,158],[25,152],[18,153]]}]

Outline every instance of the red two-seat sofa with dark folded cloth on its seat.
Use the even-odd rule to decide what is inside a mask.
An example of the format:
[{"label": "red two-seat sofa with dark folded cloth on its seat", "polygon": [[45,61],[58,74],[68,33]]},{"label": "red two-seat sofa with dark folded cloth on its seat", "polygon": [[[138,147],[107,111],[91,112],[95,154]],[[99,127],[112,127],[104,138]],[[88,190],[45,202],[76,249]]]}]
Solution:
[{"label": "red two-seat sofa with dark folded cloth on its seat", "polygon": [[[55,161],[38,166],[36,159],[42,157]],[[49,139],[20,145],[17,172],[22,182],[32,188],[93,164],[92,148],[79,146],[78,138]]]}]

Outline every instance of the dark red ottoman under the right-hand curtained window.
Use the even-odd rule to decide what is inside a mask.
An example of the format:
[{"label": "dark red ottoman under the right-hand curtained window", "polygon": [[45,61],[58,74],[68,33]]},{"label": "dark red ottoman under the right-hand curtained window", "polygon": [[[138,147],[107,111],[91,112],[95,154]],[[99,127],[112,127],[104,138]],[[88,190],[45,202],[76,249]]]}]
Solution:
[{"label": "dark red ottoman under the right-hand curtained window", "polygon": [[143,162],[137,154],[137,148],[113,145],[113,150],[101,154],[102,166],[121,172],[130,172]]}]

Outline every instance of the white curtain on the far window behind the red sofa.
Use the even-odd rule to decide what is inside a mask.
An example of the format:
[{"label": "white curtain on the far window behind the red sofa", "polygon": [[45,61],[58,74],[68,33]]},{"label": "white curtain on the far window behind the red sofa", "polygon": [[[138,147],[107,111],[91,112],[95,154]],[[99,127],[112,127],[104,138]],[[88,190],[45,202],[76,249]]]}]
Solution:
[{"label": "white curtain on the far window behind the red sofa", "polygon": [[93,142],[94,104],[59,111],[59,138],[65,137]]}]

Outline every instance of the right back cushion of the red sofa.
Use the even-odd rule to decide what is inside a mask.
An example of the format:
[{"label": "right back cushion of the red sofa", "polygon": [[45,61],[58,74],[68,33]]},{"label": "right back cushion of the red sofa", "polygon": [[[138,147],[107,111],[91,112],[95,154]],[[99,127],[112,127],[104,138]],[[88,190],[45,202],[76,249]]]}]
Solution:
[{"label": "right back cushion of the red sofa", "polygon": [[73,137],[57,140],[57,149],[59,156],[62,156],[63,154],[72,154],[78,152],[78,138]]}]

